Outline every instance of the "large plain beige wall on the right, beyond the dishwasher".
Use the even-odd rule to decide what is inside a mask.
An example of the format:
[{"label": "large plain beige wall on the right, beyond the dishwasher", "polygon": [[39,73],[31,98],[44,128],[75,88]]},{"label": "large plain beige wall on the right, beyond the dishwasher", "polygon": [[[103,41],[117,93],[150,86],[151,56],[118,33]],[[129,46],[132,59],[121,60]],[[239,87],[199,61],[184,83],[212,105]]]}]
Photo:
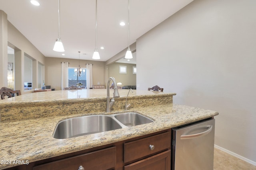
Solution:
[{"label": "large plain beige wall on the right, beyond the dishwasher", "polygon": [[137,39],[137,87],[218,111],[215,144],[256,164],[256,1],[194,0]]}]

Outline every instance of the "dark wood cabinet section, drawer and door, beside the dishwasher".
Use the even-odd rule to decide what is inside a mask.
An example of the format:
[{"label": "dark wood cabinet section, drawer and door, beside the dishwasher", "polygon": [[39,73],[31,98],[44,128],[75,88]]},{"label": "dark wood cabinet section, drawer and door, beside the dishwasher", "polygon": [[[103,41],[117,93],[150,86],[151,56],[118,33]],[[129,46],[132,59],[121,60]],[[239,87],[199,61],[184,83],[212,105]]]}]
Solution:
[{"label": "dark wood cabinet section, drawer and door, beside the dishwasher", "polygon": [[170,170],[170,147],[170,131],[124,143],[124,170]]}]

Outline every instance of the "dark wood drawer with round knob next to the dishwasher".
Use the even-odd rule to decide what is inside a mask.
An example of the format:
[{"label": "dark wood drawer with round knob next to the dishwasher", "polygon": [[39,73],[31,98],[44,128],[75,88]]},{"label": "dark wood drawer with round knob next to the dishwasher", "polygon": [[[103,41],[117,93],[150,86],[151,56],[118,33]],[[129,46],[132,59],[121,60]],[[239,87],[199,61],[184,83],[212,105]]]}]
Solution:
[{"label": "dark wood drawer with round knob next to the dishwasher", "polygon": [[[154,149],[150,146],[154,147]],[[124,162],[130,162],[171,147],[171,132],[124,143]]]}]

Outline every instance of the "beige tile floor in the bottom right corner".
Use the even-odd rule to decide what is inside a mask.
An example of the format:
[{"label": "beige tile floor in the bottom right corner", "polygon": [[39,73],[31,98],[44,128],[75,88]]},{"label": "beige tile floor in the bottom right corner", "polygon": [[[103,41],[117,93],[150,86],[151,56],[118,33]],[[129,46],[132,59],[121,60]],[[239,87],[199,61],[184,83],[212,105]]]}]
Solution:
[{"label": "beige tile floor in the bottom right corner", "polygon": [[214,170],[256,170],[256,166],[214,148]]}]

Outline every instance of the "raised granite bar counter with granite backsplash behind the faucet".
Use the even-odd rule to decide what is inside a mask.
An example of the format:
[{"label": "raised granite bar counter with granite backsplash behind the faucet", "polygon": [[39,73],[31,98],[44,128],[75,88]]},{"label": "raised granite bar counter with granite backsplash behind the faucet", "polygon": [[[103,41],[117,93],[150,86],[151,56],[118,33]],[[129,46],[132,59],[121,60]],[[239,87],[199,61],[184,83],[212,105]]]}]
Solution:
[{"label": "raised granite bar counter with granite backsplash behind the faucet", "polygon": [[[115,98],[112,111],[124,110],[129,90],[118,90],[120,98]],[[146,107],[151,104],[172,103],[175,93],[133,90],[128,96],[132,107]],[[110,89],[110,98],[113,96]],[[106,89],[57,90],[23,94],[0,100],[0,122],[18,121],[59,115],[95,113],[106,110]]]}]

